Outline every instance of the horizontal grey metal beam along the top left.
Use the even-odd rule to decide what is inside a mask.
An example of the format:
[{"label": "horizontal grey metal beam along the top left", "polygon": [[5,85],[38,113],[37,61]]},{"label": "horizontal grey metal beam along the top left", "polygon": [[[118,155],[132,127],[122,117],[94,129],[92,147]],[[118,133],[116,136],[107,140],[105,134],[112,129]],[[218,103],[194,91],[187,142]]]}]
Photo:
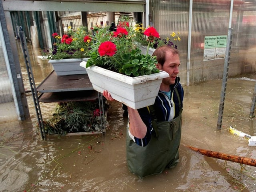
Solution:
[{"label": "horizontal grey metal beam along the top left", "polygon": [[4,11],[95,11],[95,12],[145,12],[145,0],[119,1],[38,1],[2,0]]}]

